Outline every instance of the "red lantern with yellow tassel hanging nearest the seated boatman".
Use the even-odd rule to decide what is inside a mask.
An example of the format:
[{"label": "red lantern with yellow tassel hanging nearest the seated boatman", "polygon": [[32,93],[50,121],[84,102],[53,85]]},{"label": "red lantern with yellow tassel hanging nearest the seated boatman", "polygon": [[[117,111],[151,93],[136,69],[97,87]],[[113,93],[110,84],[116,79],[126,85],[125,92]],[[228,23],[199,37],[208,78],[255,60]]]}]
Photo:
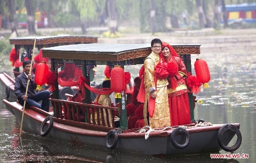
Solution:
[{"label": "red lantern with yellow tassel hanging nearest the seated boatman", "polygon": [[42,85],[46,83],[47,73],[49,72],[49,66],[46,62],[38,63],[35,71],[35,83],[37,84],[36,89],[41,90]]}]

